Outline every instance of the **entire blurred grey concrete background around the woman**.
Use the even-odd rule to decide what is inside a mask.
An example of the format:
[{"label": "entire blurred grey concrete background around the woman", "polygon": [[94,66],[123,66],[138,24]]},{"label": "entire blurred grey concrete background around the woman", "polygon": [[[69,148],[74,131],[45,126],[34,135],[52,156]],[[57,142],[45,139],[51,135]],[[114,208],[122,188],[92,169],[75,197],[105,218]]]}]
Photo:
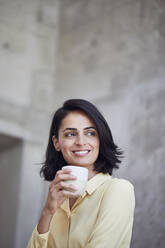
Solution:
[{"label": "entire blurred grey concrete background around the woman", "polygon": [[125,152],[131,248],[164,248],[164,0],[0,0],[0,247],[26,247],[38,221],[39,163],[68,98],[96,104]]}]

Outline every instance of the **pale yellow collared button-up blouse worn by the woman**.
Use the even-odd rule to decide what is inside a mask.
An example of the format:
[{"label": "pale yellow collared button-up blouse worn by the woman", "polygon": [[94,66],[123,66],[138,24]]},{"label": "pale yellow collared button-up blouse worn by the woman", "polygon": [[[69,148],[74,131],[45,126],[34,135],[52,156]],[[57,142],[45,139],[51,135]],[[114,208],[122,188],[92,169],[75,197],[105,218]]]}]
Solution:
[{"label": "pale yellow collared button-up blouse worn by the woman", "polygon": [[34,229],[27,248],[129,248],[134,208],[129,181],[98,173],[71,211],[64,201],[47,233]]}]

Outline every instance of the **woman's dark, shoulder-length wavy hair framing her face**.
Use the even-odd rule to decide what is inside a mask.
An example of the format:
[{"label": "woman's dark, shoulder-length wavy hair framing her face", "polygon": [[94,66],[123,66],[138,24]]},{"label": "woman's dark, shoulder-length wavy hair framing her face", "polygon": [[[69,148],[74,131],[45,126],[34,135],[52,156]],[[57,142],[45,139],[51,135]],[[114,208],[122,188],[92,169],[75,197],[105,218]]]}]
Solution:
[{"label": "woman's dark, shoulder-length wavy hair framing her face", "polygon": [[83,111],[96,126],[100,147],[98,158],[94,163],[94,170],[112,175],[113,169],[118,169],[118,164],[121,163],[123,152],[115,145],[111,130],[103,115],[89,101],[70,99],[65,101],[63,106],[59,108],[53,116],[46,150],[46,159],[40,170],[40,175],[47,181],[52,181],[56,172],[67,164],[62,153],[56,151],[54,148],[52,137],[55,136],[58,138],[58,130],[62,120],[74,110]]}]

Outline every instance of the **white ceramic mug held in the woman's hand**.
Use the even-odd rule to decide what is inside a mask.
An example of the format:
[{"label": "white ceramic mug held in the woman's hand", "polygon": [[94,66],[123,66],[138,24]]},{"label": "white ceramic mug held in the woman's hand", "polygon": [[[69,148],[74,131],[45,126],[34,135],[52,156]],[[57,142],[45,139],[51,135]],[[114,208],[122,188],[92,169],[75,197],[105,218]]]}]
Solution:
[{"label": "white ceramic mug held in the woman's hand", "polygon": [[76,180],[67,180],[67,183],[70,183],[76,187],[76,191],[74,192],[75,195],[81,196],[84,194],[86,189],[86,184],[88,181],[88,169],[81,167],[81,166],[73,166],[73,165],[66,165],[62,167],[62,170],[71,169],[71,174],[76,176]]}]

